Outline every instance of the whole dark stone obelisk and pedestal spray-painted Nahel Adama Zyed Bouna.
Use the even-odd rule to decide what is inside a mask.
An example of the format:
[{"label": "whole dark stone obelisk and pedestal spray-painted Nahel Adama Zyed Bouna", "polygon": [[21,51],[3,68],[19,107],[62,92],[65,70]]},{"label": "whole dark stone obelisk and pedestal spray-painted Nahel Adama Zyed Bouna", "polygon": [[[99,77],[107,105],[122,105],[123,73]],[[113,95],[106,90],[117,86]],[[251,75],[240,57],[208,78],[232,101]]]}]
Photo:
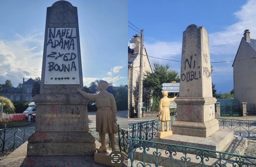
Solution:
[{"label": "whole dark stone obelisk and pedestal spray-painted Nahel Adama Zyed Bouna", "polygon": [[57,1],[47,8],[35,133],[27,155],[94,155],[83,89],[77,7]]}]

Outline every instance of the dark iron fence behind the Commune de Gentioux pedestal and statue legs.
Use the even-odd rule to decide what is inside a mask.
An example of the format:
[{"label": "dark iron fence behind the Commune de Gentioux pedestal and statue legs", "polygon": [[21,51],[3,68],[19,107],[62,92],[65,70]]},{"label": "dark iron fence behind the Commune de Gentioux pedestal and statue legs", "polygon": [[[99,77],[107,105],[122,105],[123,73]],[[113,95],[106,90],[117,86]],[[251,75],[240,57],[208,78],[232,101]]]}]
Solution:
[{"label": "dark iron fence behind the Commune de Gentioux pedestal and statue legs", "polygon": [[[118,125],[119,127],[119,125]],[[35,128],[4,128],[0,129],[0,151],[4,150],[16,150],[21,146],[32,133],[35,132]],[[96,128],[89,128],[89,132],[94,136],[95,140],[101,142],[99,133],[96,132]],[[106,145],[110,148],[110,140],[108,134],[106,134]],[[119,127],[118,134],[115,135],[115,146],[120,152],[128,153],[128,131]]]}]

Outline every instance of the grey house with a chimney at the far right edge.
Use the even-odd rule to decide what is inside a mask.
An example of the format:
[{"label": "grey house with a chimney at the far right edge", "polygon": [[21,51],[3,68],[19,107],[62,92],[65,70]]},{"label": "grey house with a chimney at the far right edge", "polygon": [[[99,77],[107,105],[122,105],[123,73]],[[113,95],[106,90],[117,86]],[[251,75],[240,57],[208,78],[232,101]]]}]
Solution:
[{"label": "grey house with a chimney at the far right edge", "polygon": [[254,104],[251,106],[255,106],[256,40],[250,38],[249,29],[244,31],[244,37],[242,37],[232,67],[234,74],[234,98],[240,103],[247,102],[248,104]]}]

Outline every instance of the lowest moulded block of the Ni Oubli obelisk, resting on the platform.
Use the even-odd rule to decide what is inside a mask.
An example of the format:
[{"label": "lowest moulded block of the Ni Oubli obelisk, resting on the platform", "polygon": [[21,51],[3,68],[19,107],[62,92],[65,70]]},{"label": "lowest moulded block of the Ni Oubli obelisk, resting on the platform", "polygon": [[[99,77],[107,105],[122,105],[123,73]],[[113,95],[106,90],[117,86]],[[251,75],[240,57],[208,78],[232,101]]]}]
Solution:
[{"label": "lowest moulded block of the Ni Oubli obelisk, resting on the platform", "polygon": [[205,123],[175,121],[173,122],[171,130],[173,131],[173,134],[206,138],[218,131],[218,129],[219,121],[217,119],[213,119]]}]

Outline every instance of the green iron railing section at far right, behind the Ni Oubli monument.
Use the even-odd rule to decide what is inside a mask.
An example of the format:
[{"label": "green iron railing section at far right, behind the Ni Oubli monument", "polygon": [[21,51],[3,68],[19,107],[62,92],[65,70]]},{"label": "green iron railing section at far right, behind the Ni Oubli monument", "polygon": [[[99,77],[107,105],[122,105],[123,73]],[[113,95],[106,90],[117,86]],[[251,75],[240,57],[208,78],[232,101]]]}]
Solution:
[{"label": "green iron railing section at far right, behind the Ni Oubli monument", "polygon": [[238,119],[217,119],[219,127],[234,131],[234,135],[249,139],[256,139],[256,121]]}]

